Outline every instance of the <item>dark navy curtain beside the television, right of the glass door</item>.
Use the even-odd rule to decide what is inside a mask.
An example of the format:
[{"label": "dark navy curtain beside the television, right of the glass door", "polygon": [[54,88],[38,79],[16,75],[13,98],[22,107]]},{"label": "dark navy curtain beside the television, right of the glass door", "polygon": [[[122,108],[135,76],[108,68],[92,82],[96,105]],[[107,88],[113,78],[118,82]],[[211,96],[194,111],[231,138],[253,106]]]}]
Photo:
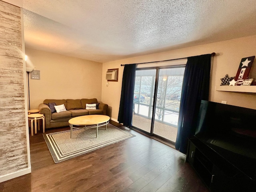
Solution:
[{"label": "dark navy curtain beside the television, right of the glass door", "polygon": [[186,64],[178,119],[175,148],[186,154],[188,138],[196,129],[201,100],[208,100],[210,84],[211,54],[188,57]]}]

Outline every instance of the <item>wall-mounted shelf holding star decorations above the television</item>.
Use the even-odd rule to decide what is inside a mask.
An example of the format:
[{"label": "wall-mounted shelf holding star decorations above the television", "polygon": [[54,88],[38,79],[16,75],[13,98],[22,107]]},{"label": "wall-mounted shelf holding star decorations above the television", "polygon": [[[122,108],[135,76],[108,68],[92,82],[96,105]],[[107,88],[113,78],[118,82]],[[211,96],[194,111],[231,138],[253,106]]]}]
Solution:
[{"label": "wall-mounted shelf holding star decorations above the television", "polygon": [[256,93],[256,86],[216,86],[216,91]]}]

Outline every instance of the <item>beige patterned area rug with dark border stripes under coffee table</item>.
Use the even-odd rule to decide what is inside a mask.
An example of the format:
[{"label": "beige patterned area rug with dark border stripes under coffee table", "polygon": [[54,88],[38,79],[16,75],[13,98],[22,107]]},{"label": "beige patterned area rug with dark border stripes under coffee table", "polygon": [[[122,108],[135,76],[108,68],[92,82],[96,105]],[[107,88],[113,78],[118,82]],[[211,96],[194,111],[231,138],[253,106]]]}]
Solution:
[{"label": "beige patterned area rug with dark border stripes under coffee table", "polygon": [[93,150],[132,138],[135,135],[117,128],[111,124],[98,129],[96,138],[96,128],[77,129],[73,128],[72,138],[70,130],[55,133],[43,134],[44,140],[52,154],[55,163],[59,163]]}]

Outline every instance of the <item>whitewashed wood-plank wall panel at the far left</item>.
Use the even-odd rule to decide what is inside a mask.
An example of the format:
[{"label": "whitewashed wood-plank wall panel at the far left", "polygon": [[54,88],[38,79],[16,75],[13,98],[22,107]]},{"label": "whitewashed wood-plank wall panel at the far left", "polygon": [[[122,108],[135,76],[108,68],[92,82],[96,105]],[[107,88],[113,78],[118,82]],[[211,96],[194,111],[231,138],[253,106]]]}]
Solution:
[{"label": "whitewashed wood-plank wall panel at the far left", "polygon": [[30,172],[25,97],[21,11],[0,0],[0,182]]}]

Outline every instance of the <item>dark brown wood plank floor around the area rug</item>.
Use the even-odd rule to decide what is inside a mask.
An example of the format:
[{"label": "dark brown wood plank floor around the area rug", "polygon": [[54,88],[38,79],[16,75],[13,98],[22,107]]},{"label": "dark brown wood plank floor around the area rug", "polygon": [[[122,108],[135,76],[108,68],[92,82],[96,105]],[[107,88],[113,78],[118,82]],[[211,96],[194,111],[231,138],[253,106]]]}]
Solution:
[{"label": "dark brown wood plank floor around the area rug", "polygon": [[184,154],[125,129],[136,137],[58,164],[42,133],[30,136],[31,174],[0,183],[0,192],[209,192]]}]

